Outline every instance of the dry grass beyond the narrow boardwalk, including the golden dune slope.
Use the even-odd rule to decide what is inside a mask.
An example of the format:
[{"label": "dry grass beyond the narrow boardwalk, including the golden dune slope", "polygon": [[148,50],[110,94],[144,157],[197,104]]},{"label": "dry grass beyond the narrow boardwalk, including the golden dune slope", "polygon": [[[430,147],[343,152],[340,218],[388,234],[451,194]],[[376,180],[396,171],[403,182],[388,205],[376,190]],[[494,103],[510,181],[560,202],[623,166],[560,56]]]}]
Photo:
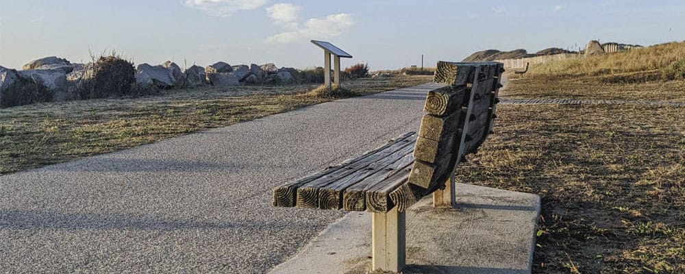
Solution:
[{"label": "dry grass beyond the narrow boardwalk, including the golden dune slope", "polygon": [[685,80],[664,81],[664,69],[685,60],[685,42],[531,66],[508,74],[511,98],[685,101]]}]

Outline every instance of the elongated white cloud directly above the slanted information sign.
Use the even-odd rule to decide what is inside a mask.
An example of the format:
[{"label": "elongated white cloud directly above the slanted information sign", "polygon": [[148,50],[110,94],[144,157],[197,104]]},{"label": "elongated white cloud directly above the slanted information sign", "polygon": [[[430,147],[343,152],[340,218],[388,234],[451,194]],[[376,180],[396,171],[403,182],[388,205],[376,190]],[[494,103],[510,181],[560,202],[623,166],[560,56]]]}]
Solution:
[{"label": "elongated white cloud directly above the slanted information sign", "polygon": [[311,18],[303,27],[298,28],[296,25],[296,29],[266,38],[266,42],[285,44],[298,40],[330,38],[343,34],[352,25],[354,22],[351,14],[331,14],[326,18]]}]

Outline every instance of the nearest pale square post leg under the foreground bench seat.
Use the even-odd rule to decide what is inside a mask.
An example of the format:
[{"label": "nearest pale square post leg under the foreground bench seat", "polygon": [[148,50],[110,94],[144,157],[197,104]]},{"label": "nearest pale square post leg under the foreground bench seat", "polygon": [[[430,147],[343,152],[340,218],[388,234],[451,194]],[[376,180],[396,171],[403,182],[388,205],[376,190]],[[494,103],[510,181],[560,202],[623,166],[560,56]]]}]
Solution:
[{"label": "nearest pale square post leg under the foreground bench seat", "polygon": [[406,264],[405,212],[372,213],[373,270],[401,271]]}]

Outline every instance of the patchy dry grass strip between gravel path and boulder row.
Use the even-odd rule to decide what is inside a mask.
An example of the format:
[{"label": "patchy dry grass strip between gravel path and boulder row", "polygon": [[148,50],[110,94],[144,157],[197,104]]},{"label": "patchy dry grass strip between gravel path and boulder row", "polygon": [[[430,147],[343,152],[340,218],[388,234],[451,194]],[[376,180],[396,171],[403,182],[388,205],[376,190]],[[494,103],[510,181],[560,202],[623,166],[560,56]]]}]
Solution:
[{"label": "patchy dry grass strip between gravel path and boulder row", "polygon": [[[355,95],[414,86],[430,77],[343,82]],[[135,99],[38,103],[0,109],[0,174],[33,169],[294,110],[333,98],[314,85],[169,90]]]}]

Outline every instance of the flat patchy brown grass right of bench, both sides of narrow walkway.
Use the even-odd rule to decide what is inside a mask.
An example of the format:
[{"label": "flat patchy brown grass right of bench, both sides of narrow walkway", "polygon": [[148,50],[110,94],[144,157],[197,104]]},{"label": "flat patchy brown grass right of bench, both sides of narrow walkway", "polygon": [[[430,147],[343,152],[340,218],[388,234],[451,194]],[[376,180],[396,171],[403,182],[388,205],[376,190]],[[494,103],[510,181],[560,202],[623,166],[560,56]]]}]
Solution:
[{"label": "flat patchy brown grass right of bench, both sides of narrow walkway", "polygon": [[[503,95],[685,101],[682,81],[593,79],[530,75]],[[497,112],[496,134],[459,178],[542,197],[534,272],[685,273],[685,108],[501,105]]]}]

